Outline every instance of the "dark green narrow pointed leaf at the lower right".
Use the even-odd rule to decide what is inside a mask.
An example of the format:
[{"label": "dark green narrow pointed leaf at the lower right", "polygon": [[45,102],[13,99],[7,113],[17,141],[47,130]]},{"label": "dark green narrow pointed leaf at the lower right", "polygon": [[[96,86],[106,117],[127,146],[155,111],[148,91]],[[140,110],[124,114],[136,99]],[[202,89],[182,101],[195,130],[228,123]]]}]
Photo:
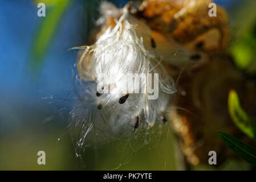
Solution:
[{"label": "dark green narrow pointed leaf at the lower right", "polygon": [[241,142],[237,138],[222,131],[217,131],[217,133],[221,137],[221,139],[226,143],[226,145],[235,152],[235,154],[237,154],[246,162],[256,165],[255,148]]}]

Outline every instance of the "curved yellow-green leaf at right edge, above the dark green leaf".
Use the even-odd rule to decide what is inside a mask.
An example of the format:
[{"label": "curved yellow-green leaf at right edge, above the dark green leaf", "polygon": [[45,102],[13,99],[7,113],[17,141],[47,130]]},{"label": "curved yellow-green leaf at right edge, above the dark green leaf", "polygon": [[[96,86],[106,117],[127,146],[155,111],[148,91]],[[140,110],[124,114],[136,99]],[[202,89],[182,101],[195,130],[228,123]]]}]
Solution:
[{"label": "curved yellow-green leaf at right edge, above the dark green leaf", "polygon": [[250,138],[256,139],[256,122],[240,106],[235,90],[229,92],[229,114],[235,125]]}]

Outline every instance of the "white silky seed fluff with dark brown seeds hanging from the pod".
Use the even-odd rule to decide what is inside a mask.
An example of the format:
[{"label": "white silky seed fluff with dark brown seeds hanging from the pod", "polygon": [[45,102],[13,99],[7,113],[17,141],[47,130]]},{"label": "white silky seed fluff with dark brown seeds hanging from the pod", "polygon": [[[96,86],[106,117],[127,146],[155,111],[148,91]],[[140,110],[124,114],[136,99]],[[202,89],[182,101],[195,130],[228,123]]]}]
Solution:
[{"label": "white silky seed fluff with dark brown seeds hanging from the pod", "polygon": [[129,12],[130,6],[102,3],[96,42],[73,48],[82,49],[75,84],[81,104],[72,112],[78,155],[90,135],[94,142],[104,142],[107,135],[125,138],[157,119],[165,122],[163,113],[176,92],[164,60],[152,47],[151,29]]}]

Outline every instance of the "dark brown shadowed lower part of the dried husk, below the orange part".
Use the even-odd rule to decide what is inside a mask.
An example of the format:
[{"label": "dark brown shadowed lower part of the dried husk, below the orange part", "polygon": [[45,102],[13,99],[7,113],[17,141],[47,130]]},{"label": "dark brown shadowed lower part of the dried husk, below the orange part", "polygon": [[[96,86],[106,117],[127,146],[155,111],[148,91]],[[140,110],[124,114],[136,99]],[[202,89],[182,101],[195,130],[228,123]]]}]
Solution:
[{"label": "dark brown shadowed lower part of the dried husk, below the orange part", "polygon": [[222,164],[228,157],[235,156],[216,131],[225,131],[251,143],[231,121],[227,109],[230,89],[238,91],[244,108],[254,108],[253,97],[248,94],[256,89],[256,84],[246,78],[233,65],[229,56],[213,55],[203,68],[182,75],[179,86],[186,94],[176,94],[175,105],[182,110],[169,113],[173,128],[181,138],[181,146],[190,164],[208,164],[208,152],[218,154],[217,163]]}]

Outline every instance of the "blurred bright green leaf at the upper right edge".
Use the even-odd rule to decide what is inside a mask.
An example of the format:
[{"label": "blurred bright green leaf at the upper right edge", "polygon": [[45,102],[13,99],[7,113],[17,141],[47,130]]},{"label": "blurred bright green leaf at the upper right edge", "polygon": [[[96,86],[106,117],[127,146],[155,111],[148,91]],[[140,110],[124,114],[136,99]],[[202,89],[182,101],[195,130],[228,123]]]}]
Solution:
[{"label": "blurred bright green leaf at the upper right edge", "polygon": [[249,75],[256,73],[256,6],[255,0],[242,2],[243,6],[237,7],[239,11],[232,11],[233,27],[235,27],[235,39],[230,45],[230,53],[237,68]]}]

